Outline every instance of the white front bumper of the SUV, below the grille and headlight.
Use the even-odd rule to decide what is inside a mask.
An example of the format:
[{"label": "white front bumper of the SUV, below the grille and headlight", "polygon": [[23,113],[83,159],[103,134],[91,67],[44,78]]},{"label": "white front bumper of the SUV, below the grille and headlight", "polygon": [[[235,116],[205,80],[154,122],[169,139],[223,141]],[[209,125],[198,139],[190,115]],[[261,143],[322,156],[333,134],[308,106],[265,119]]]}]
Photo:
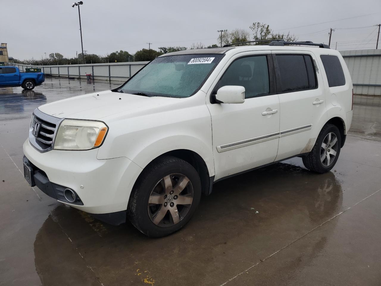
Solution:
[{"label": "white front bumper of the SUV, below the grille and headlight", "polygon": [[[34,178],[38,188],[90,214],[125,211],[134,182],[142,170],[126,157],[98,160],[98,149],[40,153],[26,140],[23,151],[25,159],[36,169]],[[73,190],[80,200],[68,202],[62,196],[64,188]]]}]

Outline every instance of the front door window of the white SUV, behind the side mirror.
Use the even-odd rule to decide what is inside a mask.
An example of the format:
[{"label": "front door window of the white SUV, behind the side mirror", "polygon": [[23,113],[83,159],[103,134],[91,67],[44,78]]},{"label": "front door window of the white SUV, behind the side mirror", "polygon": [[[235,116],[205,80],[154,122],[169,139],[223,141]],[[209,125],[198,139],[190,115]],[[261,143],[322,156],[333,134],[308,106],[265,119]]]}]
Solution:
[{"label": "front door window of the white SUV, behind the side mirror", "polygon": [[235,60],[218,84],[245,87],[245,98],[270,93],[269,69],[266,56],[250,56]]}]

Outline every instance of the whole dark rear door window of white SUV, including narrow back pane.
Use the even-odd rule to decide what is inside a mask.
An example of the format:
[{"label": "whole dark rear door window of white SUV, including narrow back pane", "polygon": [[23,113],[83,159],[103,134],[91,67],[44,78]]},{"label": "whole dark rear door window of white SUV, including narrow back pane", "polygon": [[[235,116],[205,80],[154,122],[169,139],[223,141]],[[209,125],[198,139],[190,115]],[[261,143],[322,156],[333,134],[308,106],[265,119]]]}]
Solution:
[{"label": "whole dark rear door window of white SUV, including narrow back pane", "polygon": [[277,55],[280,73],[278,92],[295,92],[317,87],[315,69],[308,55]]}]

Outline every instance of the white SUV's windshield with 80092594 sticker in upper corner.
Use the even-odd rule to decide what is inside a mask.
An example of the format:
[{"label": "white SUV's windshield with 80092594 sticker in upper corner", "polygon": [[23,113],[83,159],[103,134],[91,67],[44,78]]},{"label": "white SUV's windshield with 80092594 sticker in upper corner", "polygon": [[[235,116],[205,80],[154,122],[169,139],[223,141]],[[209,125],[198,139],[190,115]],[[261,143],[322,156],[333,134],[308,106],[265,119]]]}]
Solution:
[{"label": "white SUV's windshield with 80092594 sticker in upper corner", "polygon": [[188,97],[205,82],[220,54],[162,56],[131,77],[118,91],[146,96]]}]

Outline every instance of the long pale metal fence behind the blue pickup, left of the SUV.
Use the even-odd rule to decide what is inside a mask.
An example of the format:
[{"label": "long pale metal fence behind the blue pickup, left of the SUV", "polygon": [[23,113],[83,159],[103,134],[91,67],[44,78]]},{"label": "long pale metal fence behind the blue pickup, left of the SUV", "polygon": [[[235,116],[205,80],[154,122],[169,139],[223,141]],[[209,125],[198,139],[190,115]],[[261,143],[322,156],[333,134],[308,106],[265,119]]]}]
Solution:
[{"label": "long pale metal fence behind the blue pickup, left of the SUV", "polygon": [[29,66],[26,64],[13,65],[17,66],[20,71],[25,71],[28,67],[40,68],[42,72],[49,76],[86,79],[86,74],[91,74],[91,77],[95,80],[125,82],[147,63],[149,62],[140,61],[104,64],[69,64],[62,66]]}]

